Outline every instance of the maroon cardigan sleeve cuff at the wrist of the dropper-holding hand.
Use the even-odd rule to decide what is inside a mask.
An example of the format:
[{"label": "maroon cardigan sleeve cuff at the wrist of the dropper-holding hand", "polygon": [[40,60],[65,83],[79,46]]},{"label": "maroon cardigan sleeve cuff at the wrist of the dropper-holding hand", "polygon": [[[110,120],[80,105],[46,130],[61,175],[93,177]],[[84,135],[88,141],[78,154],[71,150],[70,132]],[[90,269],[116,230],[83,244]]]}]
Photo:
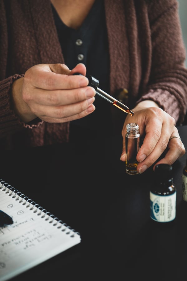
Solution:
[{"label": "maroon cardigan sleeve cuff at the wrist of the dropper-holding hand", "polygon": [[35,119],[29,124],[23,123],[11,109],[10,91],[12,83],[24,75],[15,74],[9,78],[0,81],[0,138],[13,134],[24,128],[33,128],[43,123],[40,119]]}]

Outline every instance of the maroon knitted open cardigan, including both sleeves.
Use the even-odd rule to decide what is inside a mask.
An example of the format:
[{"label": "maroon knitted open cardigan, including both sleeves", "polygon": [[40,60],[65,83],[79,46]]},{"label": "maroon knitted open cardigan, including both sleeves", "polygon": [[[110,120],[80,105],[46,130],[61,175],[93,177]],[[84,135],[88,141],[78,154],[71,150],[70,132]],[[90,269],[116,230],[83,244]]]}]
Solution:
[{"label": "maroon knitted open cardigan, including both sleeves", "polygon": [[[177,1],[104,2],[110,94],[126,88],[129,107],[153,100],[181,124],[187,109],[187,70]],[[69,123],[22,123],[10,103],[12,82],[28,68],[64,63],[50,1],[0,0],[0,15],[0,148],[67,142]]]}]

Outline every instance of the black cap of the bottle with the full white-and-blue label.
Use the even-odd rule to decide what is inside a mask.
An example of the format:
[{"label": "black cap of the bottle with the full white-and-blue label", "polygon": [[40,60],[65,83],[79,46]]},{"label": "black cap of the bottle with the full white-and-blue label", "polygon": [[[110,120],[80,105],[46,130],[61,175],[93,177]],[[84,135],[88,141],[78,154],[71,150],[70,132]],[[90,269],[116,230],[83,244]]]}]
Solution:
[{"label": "black cap of the bottle with the full white-and-blue label", "polygon": [[155,166],[156,181],[173,183],[171,175],[173,167],[169,164],[158,164]]}]

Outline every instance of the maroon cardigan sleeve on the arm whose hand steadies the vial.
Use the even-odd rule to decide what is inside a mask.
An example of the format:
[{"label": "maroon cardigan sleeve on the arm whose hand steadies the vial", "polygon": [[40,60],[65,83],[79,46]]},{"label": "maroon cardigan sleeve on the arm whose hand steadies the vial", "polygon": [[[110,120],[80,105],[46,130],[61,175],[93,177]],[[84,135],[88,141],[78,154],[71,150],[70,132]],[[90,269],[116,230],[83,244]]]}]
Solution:
[{"label": "maroon cardigan sleeve on the arm whose hand steadies the vial", "polygon": [[175,0],[150,3],[151,75],[137,103],[153,100],[175,118],[176,124],[181,124],[187,110],[187,70],[178,3]]}]

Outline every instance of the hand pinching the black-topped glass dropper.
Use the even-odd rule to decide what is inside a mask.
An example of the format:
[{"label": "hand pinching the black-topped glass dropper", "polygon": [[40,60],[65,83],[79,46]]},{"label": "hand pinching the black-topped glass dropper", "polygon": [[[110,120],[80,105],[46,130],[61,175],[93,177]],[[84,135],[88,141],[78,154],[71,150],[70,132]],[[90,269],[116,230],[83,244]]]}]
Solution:
[{"label": "hand pinching the black-topped glass dropper", "polygon": [[[82,75],[75,75],[80,73]],[[83,118],[95,110],[95,89],[87,86],[86,67],[70,70],[65,64],[38,64],[12,84],[16,115],[28,123],[36,117],[49,123]]]}]

